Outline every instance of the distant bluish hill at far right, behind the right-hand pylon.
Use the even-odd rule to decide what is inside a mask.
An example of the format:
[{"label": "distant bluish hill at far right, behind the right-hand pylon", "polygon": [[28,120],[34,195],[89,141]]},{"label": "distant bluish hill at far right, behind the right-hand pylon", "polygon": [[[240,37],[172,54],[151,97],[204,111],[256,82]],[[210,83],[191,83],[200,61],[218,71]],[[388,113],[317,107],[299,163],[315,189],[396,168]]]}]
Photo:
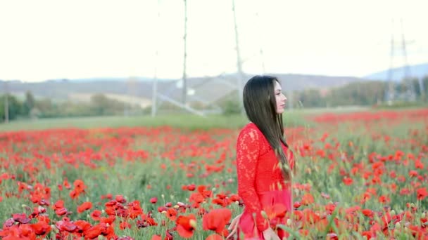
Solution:
[{"label": "distant bluish hill at far right, behind the right-hand pylon", "polygon": [[[428,75],[428,62],[422,63],[419,65],[410,65],[410,76],[416,77],[418,79],[423,78],[424,76]],[[396,67],[392,69],[392,77],[391,79],[393,81],[401,81],[405,76],[405,68],[404,67]],[[382,81],[388,81],[388,72],[389,69],[386,69],[382,72],[375,72],[374,74],[370,74],[368,76],[365,76],[365,79],[370,80],[382,80]]]}]

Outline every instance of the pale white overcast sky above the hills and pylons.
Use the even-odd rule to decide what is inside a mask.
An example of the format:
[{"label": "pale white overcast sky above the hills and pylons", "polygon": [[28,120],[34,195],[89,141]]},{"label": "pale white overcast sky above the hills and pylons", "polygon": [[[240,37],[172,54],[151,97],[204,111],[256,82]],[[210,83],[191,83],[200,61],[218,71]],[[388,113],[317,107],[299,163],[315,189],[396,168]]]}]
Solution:
[{"label": "pale white overcast sky above the hills and pylons", "polygon": [[[391,35],[400,67],[401,19],[408,64],[428,62],[427,7],[424,0],[235,0],[242,68],[362,77],[389,68]],[[183,36],[183,0],[0,0],[0,79],[180,79]],[[187,0],[186,72],[237,72],[232,0]]]}]

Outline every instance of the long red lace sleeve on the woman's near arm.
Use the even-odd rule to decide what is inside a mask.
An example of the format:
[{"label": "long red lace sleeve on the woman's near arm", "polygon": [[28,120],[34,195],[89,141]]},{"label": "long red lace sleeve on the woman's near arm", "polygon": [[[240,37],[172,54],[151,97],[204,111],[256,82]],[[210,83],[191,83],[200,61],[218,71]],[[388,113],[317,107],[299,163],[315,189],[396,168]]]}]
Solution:
[{"label": "long red lace sleeve on the woman's near arm", "polygon": [[237,140],[238,194],[251,213],[256,213],[256,226],[259,231],[269,227],[261,215],[262,208],[255,189],[256,167],[260,152],[260,133],[256,129],[244,129]]}]

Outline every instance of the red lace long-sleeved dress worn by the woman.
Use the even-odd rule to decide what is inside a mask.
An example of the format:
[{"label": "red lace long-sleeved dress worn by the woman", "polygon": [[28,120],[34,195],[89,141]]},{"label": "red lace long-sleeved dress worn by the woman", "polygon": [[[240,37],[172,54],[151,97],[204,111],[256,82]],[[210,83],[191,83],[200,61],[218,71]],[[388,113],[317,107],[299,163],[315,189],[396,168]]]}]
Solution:
[{"label": "red lace long-sleeved dress worn by the woman", "polygon": [[[289,166],[294,168],[293,152],[282,144]],[[244,201],[244,212],[239,219],[238,236],[244,239],[264,239],[267,227],[286,224],[291,213],[291,187],[286,185],[279,160],[269,142],[256,124],[247,124],[237,140],[238,194]],[[260,213],[265,211],[268,220]],[[280,239],[288,234],[277,230]]]}]

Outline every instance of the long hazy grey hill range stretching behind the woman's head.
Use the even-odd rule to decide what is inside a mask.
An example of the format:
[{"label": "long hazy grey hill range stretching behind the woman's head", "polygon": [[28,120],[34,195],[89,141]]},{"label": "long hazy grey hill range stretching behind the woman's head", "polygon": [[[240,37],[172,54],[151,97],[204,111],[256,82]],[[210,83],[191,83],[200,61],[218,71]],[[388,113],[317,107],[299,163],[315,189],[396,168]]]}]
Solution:
[{"label": "long hazy grey hill range stretching behind the woman's head", "polygon": [[[306,88],[331,88],[342,86],[354,81],[365,81],[349,76],[315,76],[303,74],[273,74],[282,81],[284,91],[296,91]],[[251,76],[245,76],[245,81]],[[189,102],[197,101],[209,104],[216,102],[236,90],[237,74],[225,74],[208,78],[187,79]],[[159,79],[158,93],[180,101],[182,84],[178,79]],[[243,86],[245,84],[243,83]],[[0,80],[0,84],[1,80]],[[53,100],[87,101],[94,93],[104,93],[115,96],[118,100],[132,96],[133,101],[151,104],[153,79],[136,77],[130,78],[96,78],[96,79],[54,79],[43,82],[9,81],[8,88],[13,94],[23,95],[31,91],[36,98],[51,98]]]}]

